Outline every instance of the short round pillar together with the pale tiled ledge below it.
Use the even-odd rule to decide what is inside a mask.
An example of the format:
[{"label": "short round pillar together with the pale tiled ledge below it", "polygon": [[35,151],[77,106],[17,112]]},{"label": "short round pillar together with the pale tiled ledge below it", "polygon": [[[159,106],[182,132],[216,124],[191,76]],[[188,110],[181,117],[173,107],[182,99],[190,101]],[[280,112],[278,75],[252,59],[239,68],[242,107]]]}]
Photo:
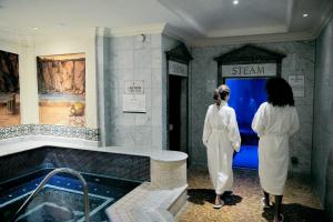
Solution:
[{"label": "short round pillar together with the pale tiled ledge below it", "polygon": [[107,209],[112,222],[173,222],[185,204],[188,155],[160,152],[151,155],[151,182],[144,182]]}]

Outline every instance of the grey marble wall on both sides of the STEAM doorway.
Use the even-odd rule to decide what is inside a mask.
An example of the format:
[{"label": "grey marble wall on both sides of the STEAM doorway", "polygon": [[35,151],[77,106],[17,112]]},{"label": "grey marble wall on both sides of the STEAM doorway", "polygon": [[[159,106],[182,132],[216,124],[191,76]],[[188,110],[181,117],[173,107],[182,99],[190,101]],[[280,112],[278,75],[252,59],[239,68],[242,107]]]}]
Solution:
[{"label": "grey marble wall on both sides of the STEAM doorway", "polygon": [[[192,48],[191,62],[191,142],[190,159],[192,165],[205,167],[206,153],[202,144],[203,121],[209,104],[213,102],[212,82],[218,79],[218,63],[213,58],[238,49],[243,44],[194,47]],[[287,80],[291,74],[305,75],[305,97],[295,98],[301,128],[291,138],[291,157],[299,159],[299,164],[291,164],[292,172],[310,174],[313,124],[313,89],[314,89],[314,41],[294,41],[279,43],[259,43],[256,47],[280,52],[286,57],[282,61],[282,77]]]}]

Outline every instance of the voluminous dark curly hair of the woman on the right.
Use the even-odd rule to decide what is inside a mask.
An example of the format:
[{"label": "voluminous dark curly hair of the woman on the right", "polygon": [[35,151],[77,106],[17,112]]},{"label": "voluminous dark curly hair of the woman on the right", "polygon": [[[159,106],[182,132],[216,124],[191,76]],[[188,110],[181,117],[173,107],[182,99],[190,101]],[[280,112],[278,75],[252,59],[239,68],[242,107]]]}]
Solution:
[{"label": "voluminous dark curly hair of the woman on the right", "polygon": [[293,91],[282,78],[271,78],[266,82],[268,102],[274,107],[295,105]]}]

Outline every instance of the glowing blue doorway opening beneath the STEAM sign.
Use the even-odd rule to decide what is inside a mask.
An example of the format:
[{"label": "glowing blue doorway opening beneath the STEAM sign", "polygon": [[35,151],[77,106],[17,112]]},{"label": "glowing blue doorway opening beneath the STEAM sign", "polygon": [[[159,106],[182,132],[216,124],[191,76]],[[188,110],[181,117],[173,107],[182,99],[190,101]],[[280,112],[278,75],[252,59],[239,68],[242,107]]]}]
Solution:
[{"label": "glowing blue doorway opening beneath the STEAM sign", "polygon": [[225,78],[231,94],[229,105],[235,110],[242,145],[233,167],[258,169],[258,137],[251,123],[260,104],[266,101],[265,78]]}]

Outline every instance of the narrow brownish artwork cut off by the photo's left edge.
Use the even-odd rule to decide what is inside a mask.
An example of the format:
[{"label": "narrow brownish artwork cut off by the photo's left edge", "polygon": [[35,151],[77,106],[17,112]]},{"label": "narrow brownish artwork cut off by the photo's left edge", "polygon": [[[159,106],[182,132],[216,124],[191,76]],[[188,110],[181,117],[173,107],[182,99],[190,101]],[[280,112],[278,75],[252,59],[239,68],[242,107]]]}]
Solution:
[{"label": "narrow brownish artwork cut off by the photo's left edge", "polygon": [[0,127],[20,123],[19,56],[0,50]]}]

